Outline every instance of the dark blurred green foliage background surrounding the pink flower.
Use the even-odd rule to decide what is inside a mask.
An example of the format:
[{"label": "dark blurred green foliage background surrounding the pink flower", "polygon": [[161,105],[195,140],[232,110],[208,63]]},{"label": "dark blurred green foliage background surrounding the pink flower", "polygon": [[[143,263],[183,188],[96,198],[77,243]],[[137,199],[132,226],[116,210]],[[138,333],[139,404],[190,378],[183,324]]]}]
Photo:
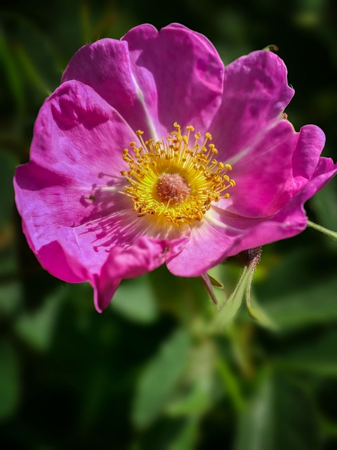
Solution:
[{"label": "dark blurred green foliage background surrounding the pink flower", "polygon": [[[0,20],[0,436],[2,449],[337,448],[337,243],[312,229],[267,245],[252,302],[222,330],[198,278],[165,267],[124,281],[103,314],[87,284],[42,270],[13,203],[38,110],[80,46],[171,22],[206,34],[223,61],[275,44],[298,130],[326,133],[337,159],[333,0],[12,1]],[[337,231],[337,184],[306,204]],[[230,295],[235,260],[216,276]]]}]

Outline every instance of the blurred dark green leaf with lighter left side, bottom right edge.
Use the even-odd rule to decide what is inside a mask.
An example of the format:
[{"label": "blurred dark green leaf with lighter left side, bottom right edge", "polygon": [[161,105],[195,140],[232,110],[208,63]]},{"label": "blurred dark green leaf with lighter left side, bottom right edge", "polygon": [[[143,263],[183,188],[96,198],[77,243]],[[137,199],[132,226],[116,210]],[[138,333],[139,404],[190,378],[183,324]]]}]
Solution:
[{"label": "blurred dark green leaf with lighter left side, bottom right edge", "polygon": [[289,380],[265,375],[239,419],[234,450],[318,450],[315,410],[304,390]]}]

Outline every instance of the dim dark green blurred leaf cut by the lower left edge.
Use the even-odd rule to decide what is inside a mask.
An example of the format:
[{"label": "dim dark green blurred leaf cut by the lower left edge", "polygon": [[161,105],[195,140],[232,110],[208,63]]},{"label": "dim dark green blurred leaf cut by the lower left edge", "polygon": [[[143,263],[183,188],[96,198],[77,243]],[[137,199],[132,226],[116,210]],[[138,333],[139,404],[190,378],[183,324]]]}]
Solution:
[{"label": "dim dark green blurred leaf cut by the lower left edge", "polygon": [[20,397],[18,356],[8,342],[0,342],[0,420],[15,413]]}]

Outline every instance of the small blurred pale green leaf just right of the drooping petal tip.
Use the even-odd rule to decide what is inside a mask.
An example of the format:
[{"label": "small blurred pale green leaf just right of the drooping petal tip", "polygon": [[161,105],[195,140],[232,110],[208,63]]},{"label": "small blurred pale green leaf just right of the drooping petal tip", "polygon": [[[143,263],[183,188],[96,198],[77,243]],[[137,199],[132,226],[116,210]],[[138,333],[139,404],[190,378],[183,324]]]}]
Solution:
[{"label": "small blurred pale green leaf just right of the drooping petal tip", "polygon": [[147,275],[123,281],[114,295],[111,307],[134,322],[152,323],[159,316]]}]

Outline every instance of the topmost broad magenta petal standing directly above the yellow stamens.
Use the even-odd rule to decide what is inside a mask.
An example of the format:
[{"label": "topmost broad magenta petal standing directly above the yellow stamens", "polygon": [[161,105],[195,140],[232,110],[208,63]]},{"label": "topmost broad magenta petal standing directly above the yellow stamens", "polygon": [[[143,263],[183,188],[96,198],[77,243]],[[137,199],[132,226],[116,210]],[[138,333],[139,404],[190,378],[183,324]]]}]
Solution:
[{"label": "topmost broad magenta petal standing directly above the yellow stamens", "polygon": [[223,63],[208,39],[178,24],[160,32],[140,25],[122,39],[157,137],[165,137],[174,122],[207,131],[223,82]]}]

